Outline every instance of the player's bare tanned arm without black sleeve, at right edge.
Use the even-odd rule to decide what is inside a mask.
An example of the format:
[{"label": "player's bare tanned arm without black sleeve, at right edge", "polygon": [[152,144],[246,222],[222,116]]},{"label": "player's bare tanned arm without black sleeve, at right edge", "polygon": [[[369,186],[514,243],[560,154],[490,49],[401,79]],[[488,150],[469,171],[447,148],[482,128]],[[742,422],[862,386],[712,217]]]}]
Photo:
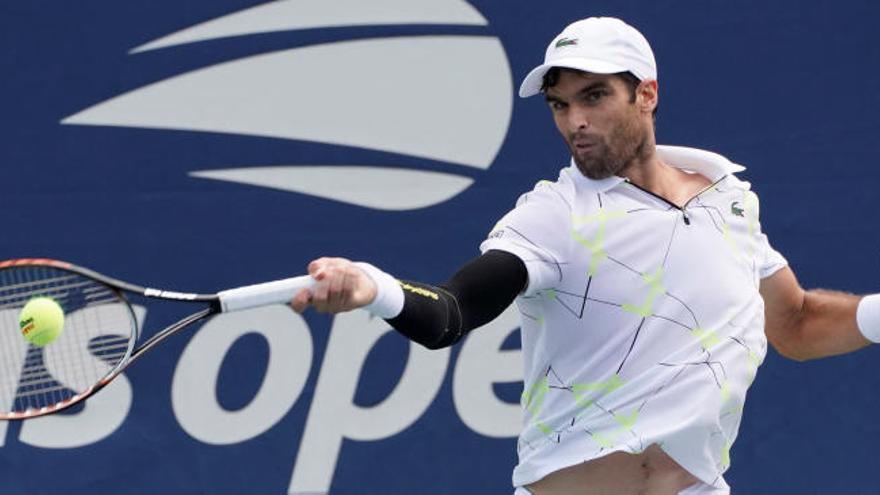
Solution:
[{"label": "player's bare tanned arm without black sleeve, at right edge", "polygon": [[[862,296],[804,290],[788,267],[763,279],[760,291],[767,340],[787,358],[805,361],[846,354],[871,344],[859,329],[856,316]],[[873,311],[865,313],[869,323],[880,323],[871,321]],[[864,326],[865,321],[862,323]]]}]

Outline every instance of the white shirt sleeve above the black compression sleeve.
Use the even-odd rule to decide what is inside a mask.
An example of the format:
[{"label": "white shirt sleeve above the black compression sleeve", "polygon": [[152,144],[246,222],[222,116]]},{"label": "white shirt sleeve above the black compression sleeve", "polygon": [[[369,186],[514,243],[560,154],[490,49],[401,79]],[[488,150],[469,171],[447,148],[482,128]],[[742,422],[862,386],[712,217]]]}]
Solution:
[{"label": "white shirt sleeve above the black compression sleeve", "polygon": [[562,264],[570,250],[571,206],[558,183],[539,182],[522,195],[480,244],[485,253],[496,249],[519,257],[528,282],[522,295],[550,289],[562,280]]}]

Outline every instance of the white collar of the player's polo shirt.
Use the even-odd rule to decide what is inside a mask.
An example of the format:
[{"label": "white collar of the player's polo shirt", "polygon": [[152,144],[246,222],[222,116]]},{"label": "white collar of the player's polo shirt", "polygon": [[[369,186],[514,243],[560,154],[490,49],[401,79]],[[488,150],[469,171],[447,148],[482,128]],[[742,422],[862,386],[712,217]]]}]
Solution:
[{"label": "white collar of the player's polo shirt", "polygon": [[[673,167],[697,172],[706,176],[712,182],[721,179],[725,175],[742,172],[746,169],[718,153],[684,146],[657,145],[657,156]],[[574,158],[572,158],[571,165],[566,170],[575,183],[585,188],[588,192],[606,192],[626,180],[616,175],[600,180],[590,179],[577,168]]]}]

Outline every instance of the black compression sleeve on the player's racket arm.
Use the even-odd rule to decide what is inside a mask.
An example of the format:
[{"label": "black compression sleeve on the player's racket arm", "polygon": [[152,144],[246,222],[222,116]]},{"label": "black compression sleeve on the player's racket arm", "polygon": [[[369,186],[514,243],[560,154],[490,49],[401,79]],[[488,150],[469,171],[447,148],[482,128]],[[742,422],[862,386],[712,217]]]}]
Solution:
[{"label": "black compression sleeve on the player's racket arm", "polygon": [[439,287],[401,281],[403,311],[388,323],[428,349],[448,347],[500,315],[527,282],[526,265],[519,257],[487,251]]}]

